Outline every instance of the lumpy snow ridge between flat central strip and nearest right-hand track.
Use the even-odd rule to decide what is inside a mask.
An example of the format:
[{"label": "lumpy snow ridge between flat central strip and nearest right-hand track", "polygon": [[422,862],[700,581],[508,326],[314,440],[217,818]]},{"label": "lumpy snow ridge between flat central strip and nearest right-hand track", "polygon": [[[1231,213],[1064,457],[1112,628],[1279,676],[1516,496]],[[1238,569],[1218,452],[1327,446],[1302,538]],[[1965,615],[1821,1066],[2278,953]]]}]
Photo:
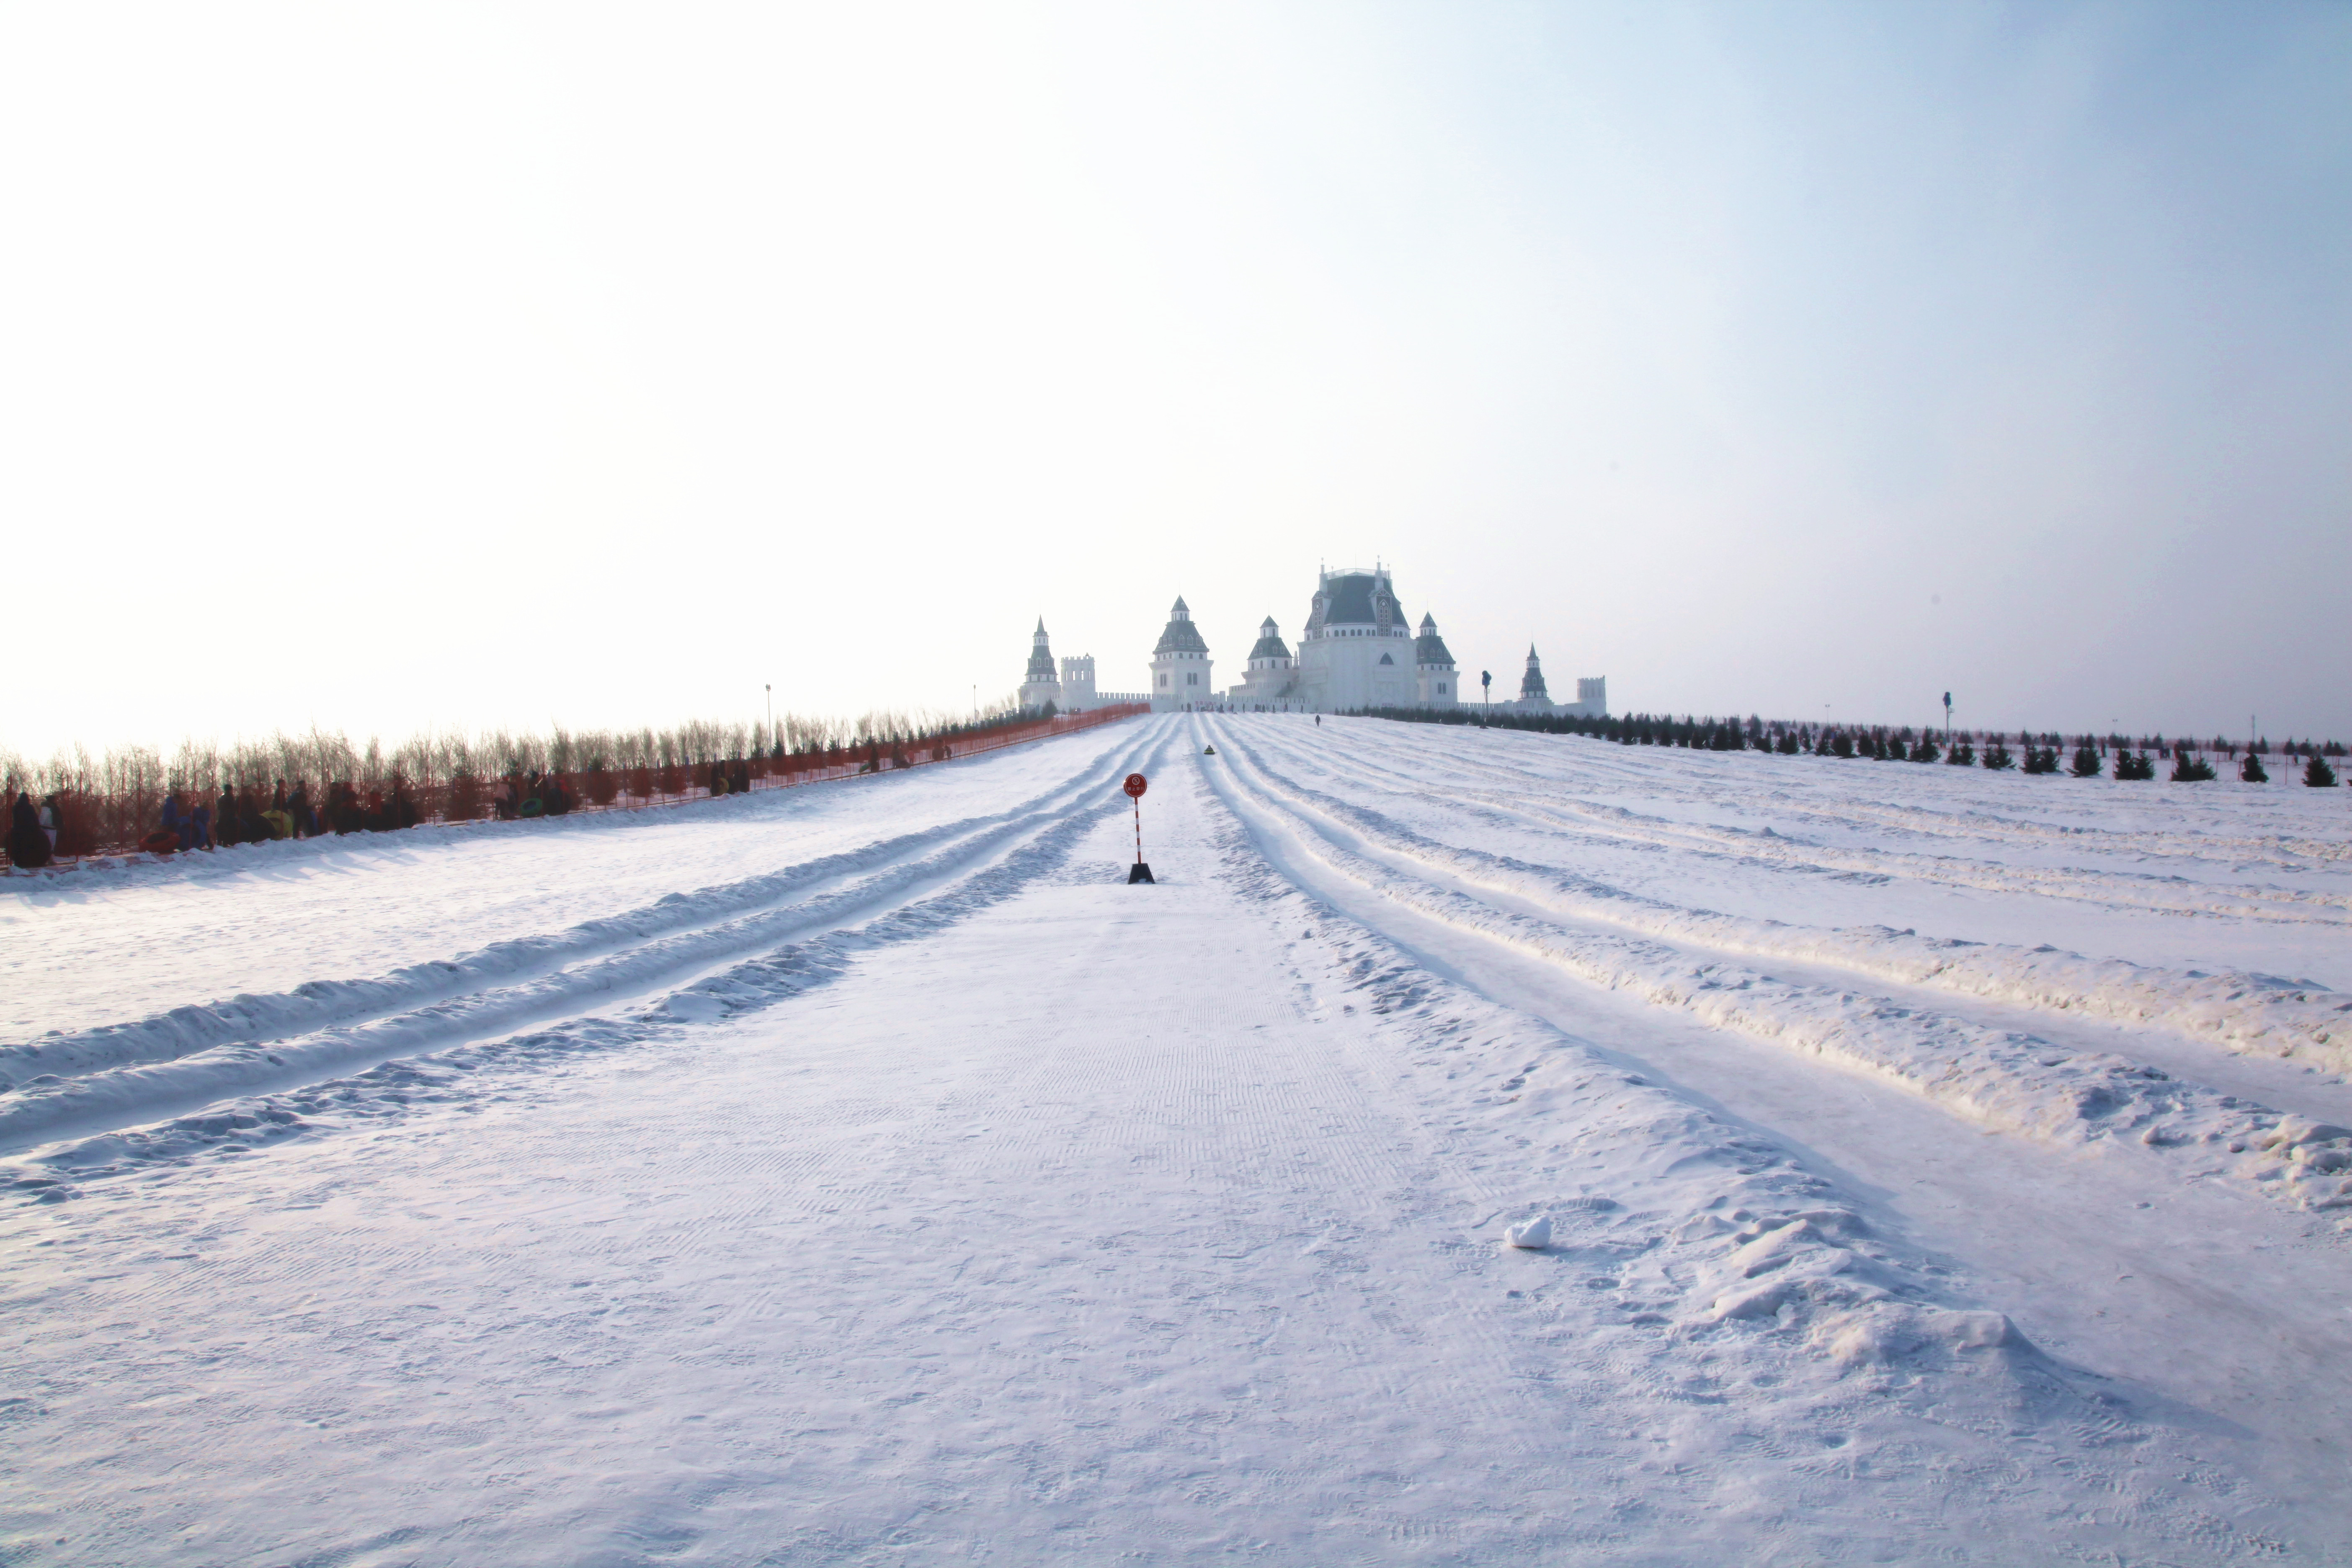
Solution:
[{"label": "lumpy snow ridge between flat central strip and nearest right-hand track", "polygon": [[[1223,729],[1214,719],[1202,724],[1214,733],[1218,759],[1230,757]],[[1204,788],[1232,809],[1240,792],[1221,762],[1202,762],[1202,769]],[[2157,1453],[2197,1465],[2178,1455],[2197,1441],[2206,1418],[2131,1378],[2136,1368],[2117,1368],[2124,1375],[2110,1378],[2065,1356],[2049,1359],[2030,1333],[1992,1312],[2004,1305],[1985,1295],[1997,1281],[1950,1253],[1924,1251],[1884,1190],[1769,1124],[1722,1107],[1710,1112],[1705,1093],[1635,1072],[1644,1063],[1592,1037],[1562,1034],[1538,1011],[1496,999],[1475,971],[1449,966],[1428,947],[1399,945],[1388,933],[1392,922],[1381,922],[1376,907],[1369,912],[1378,924],[1367,924],[1359,898],[1343,889],[1341,898],[1329,898],[1334,884],[1301,865],[1294,842],[1268,837],[1270,825],[1247,809],[1232,816],[1235,879],[1284,919],[1296,919],[1289,912],[1298,910],[1308,945],[1336,950],[1350,976],[1345,990],[1392,1018],[1395,1025],[1383,1027],[1411,1041],[1399,1046],[1399,1056],[1411,1058],[1399,1077],[1418,1081],[1432,1105],[1451,1103],[1454,1152],[1472,1166],[1465,1187],[1491,1194],[1491,1204],[1484,1197],[1479,1204],[1489,1208],[1484,1220],[1548,1211],[1562,1227],[1555,1248],[1590,1260],[1571,1272],[1604,1274],[1588,1284],[1646,1298],[1621,1300],[1618,1309],[1630,1314],[1623,1321],[1653,1324],[1665,1338],[1665,1345],[1642,1347],[1606,1328],[1562,1326],[1562,1349],[1576,1345],[1576,1366],[1529,1368],[1531,1375],[1573,1382],[1595,1371],[1597,1359],[1621,1396],[1635,1389],[1635,1396],[1675,1399],[1661,1378],[1668,1366],[1689,1366],[1696,1356],[1722,1387],[1788,1389],[1785,1410],[1748,1408],[1738,1418],[1750,1434],[1837,1425],[1846,1415],[1825,1413],[1851,1408],[1849,1399],[1922,1418],[1955,1443],[1931,1465],[1973,1476],[1971,1488],[1983,1488],[1978,1505],[1994,1512],[2006,1512],[2009,1488],[2034,1486],[2032,1462],[2053,1460],[2082,1476],[2105,1472],[2110,1479],[2096,1488],[2114,1486],[2117,1497],[2133,1497],[2098,1521],[2122,1528],[2107,1537],[2107,1549],[2124,1561],[2138,1561],[2138,1552],[2154,1552],[2154,1561],[2263,1561],[2279,1549],[2279,1540],[2249,1528],[2246,1516],[2225,1523],[2209,1514],[2206,1505],[2218,1497],[2159,1500],[2140,1486],[2140,1467],[2159,1462]],[[1783,1265],[1773,1260],[1776,1246],[1797,1253],[1830,1246],[1832,1253]],[[1846,1248],[1860,1253],[1853,1260],[1835,1255]],[[1987,1347],[1999,1349],[1985,1354]],[[2030,1429],[2058,1441],[2037,1448],[2025,1467],[1990,1450],[1966,1453],[1969,1434],[1999,1439]],[[1795,1458],[1795,1446],[1780,1453]],[[1912,1460],[1924,1460],[1924,1450]],[[2176,1474],[2187,1479],[2185,1469]],[[2256,1505],[2256,1497],[2237,1493],[2237,1502]],[[1773,1523],[1764,1526],[1766,1519]],[[1809,1561],[1795,1544],[1806,1533],[1783,1540],[1780,1523],[1771,1507],[1759,1507],[1722,1561],[1771,1561],[1778,1549]],[[2093,1521],[2084,1516],[2082,1523]],[[1842,1523],[1844,1549],[1870,1528]],[[2089,1542],[2089,1533],[2082,1540]],[[2044,1556],[2046,1547],[2020,1542],[2023,1535],[1994,1547],[1997,1561],[2056,1561]],[[1806,1547],[1820,1549],[1811,1540]],[[1936,1556],[1971,1561],[1976,1549],[1950,1542]],[[2300,1554],[2288,1556],[2300,1561]],[[1703,1552],[1675,1561],[1700,1559],[1717,1561]]]}]

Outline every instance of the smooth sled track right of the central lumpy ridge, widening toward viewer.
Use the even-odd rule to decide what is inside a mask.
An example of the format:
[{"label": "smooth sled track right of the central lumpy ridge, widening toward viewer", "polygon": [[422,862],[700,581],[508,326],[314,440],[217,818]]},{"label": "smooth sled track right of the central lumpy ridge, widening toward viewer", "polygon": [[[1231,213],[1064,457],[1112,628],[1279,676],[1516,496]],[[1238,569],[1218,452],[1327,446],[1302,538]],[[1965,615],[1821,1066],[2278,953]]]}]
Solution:
[{"label": "smooth sled track right of the central lumpy ridge, widening toward viewer", "polygon": [[[2267,1469],[2286,1495],[2340,1495],[2347,1481],[2343,1446],[2352,1434],[2336,1418],[2321,1422],[2326,1436],[2305,1434],[2296,1418],[2281,1425],[2272,1392],[2293,1387],[2331,1408],[2352,1406],[2352,1324],[2340,1312],[2343,1211],[2249,1201],[2256,1185],[2274,1190],[2293,1168],[2279,1150],[2270,1150],[2265,1164],[2239,1164],[2201,1159],[2199,1150],[2211,1145],[2166,1150],[1987,1135],[1971,1117],[1922,1093],[1933,1084],[1903,1086],[1875,1070],[1825,1070],[1825,1058],[1759,1046],[1738,1027],[1715,1025],[1677,1001],[1661,1006],[1630,987],[1564,973],[1550,954],[1512,940],[1486,905],[1432,898],[1446,889],[1350,856],[1322,830],[1329,823],[1301,818],[1279,797],[1261,795],[1249,766],[1258,726],[1251,719],[1204,724],[1218,752],[1209,780],[1254,846],[1310,898],[1395,943],[1416,966],[1604,1041],[1625,1070],[1752,1128],[1846,1192],[1870,1194],[1867,1218],[1917,1237],[1943,1265],[1973,1274],[1980,1300],[2006,1312],[2027,1340],[2074,1366],[2145,1380],[2150,1408],[2173,1403],[2176,1420],[2190,1422],[2185,1429],[2223,1422],[2234,1439],[2272,1432],[2260,1458],[2241,1458]],[[1439,780],[1432,785],[1442,788]],[[2281,1131],[2314,1128],[2288,1117]],[[2249,1185],[2225,1175],[2234,1164],[2263,1180]],[[2324,1175],[2326,1192],[2336,1192],[2340,1173]],[[2300,1408],[2303,1399],[2293,1403]],[[2328,1547],[2281,1549],[2253,1540],[2241,1547],[2246,1559],[2277,1552],[2286,1561],[2336,1561],[2328,1552],[2352,1549],[2352,1537],[2338,1509],[2321,1512],[2328,1523],[2319,1533]],[[2232,1561],[2237,1549],[2216,1547],[2216,1556]],[[2176,1559],[2157,1552],[2154,1561]],[[2178,1561],[2204,1561],[2204,1554]]]}]

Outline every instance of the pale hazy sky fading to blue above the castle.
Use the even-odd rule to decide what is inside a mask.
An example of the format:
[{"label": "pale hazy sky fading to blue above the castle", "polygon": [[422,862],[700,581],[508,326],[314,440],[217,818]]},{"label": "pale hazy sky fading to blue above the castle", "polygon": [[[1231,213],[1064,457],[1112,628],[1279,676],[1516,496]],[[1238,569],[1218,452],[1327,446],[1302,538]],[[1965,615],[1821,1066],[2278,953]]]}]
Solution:
[{"label": "pale hazy sky fading to blue above the castle", "polygon": [[2352,738],[2352,12],[16,9],[0,748],[1218,684]]}]

